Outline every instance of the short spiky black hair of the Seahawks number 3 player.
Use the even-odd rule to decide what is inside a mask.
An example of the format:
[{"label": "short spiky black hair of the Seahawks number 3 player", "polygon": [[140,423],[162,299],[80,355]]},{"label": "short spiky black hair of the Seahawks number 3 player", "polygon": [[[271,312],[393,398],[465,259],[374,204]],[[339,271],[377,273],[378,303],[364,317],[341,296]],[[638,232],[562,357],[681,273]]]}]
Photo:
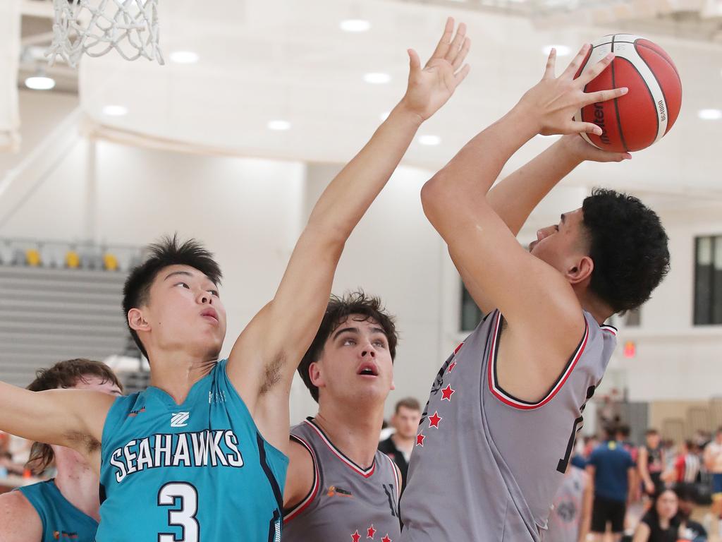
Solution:
[{"label": "short spiky black hair of the Seahawks number 3 player", "polygon": [[[128,319],[128,311],[136,309],[148,302],[150,286],[156,275],[169,265],[188,265],[206,275],[212,283],[219,285],[222,273],[219,265],[213,259],[213,254],[195,239],[188,239],[184,243],[178,241],[178,236],[163,237],[155,244],[147,247],[148,256],[145,261],[131,271],[123,286],[123,314]],[[135,330],[128,329],[136,345],[147,358],[148,353]]]}]

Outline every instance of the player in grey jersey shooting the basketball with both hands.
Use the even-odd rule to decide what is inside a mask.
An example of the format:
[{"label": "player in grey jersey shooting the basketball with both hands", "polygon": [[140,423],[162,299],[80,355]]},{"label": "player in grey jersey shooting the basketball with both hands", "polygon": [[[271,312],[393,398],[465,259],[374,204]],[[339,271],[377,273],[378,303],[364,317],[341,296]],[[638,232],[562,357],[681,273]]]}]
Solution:
[{"label": "player in grey jersey shooting the basketball with both hands", "polygon": [[615,344],[612,314],[643,303],[669,267],[658,217],[638,199],[595,191],[583,207],[516,234],[581,161],[622,160],[562,139],[490,192],[508,158],[535,134],[596,132],[580,107],[625,89],[583,93],[612,56],[574,78],[555,53],[541,81],[461,149],[422,189],[466,288],[487,316],[432,386],[401,498],[404,541],[538,542],[586,401]]}]

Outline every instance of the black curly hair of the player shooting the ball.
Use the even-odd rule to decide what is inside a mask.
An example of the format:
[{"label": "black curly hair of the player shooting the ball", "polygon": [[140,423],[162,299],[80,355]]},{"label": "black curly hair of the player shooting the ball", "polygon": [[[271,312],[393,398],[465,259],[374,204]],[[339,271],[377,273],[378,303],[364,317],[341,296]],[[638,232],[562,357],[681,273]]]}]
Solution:
[{"label": "black curly hair of the player shooting the ball", "polygon": [[582,205],[594,262],[590,291],[615,313],[637,309],[669,272],[667,234],[639,199],[594,189]]}]

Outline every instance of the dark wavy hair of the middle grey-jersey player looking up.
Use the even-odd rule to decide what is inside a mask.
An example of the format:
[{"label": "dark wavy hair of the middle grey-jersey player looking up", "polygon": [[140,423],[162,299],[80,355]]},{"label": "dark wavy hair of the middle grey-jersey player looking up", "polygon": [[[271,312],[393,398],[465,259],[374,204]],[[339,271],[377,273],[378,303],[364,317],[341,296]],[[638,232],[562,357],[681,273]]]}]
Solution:
[{"label": "dark wavy hair of the middle grey-jersey player looking up", "polygon": [[308,387],[308,391],[311,392],[311,397],[316,403],[318,403],[318,387],[311,382],[308,368],[310,364],[321,358],[321,352],[323,352],[323,346],[326,345],[326,340],[351,314],[360,314],[366,317],[367,320],[373,320],[379,324],[386,334],[391,360],[396,358],[396,344],[399,343],[396,323],[393,316],[386,314],[386,309],[381,304],[380,298],[367,296],[362,290],[347,293],[342,297],[331,296],[329,305],[326,306],[326,313],[323,314],[321,326],[316,332],[316,337],[306,350],[298,366],[298,374],[300,374],[303,383]]}]

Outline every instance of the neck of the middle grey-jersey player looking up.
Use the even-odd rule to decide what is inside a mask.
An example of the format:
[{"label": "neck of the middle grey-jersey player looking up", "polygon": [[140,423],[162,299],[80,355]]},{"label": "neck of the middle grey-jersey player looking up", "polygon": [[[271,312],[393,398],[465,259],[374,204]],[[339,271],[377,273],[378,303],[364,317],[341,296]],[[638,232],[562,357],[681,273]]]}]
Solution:
[{"label": "neck of the middle grey-jersey player looking up", "polygon": [[[360,413],[362,415],[360,416]],[[362,468],[370,467],[378,449],[383,403],[358,408],[354,404],[318,405],[316,423],[334,446]]]}]

